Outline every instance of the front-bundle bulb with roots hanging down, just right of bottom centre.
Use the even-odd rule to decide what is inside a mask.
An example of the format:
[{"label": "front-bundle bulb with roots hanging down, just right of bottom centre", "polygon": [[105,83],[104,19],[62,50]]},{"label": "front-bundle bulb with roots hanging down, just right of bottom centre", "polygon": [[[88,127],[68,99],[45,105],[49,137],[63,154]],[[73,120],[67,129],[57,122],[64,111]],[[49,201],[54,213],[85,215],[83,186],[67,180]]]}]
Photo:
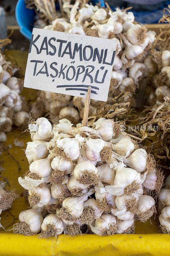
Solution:
[{"label": "front-bundle bulb with roots hanging down, just right of bottom centre", "polygon": [[[103,188],[103,189],[102,189]],[[112,208],[115,208],[115,198],[116,196],[113,196],[106,192],[103,184],[99,184],[98,187],[95,187],[95,197],[97,200],[97,205],[100,208],[100,210],[103,210],[104,213],[108,213],[111,211]]]}]

